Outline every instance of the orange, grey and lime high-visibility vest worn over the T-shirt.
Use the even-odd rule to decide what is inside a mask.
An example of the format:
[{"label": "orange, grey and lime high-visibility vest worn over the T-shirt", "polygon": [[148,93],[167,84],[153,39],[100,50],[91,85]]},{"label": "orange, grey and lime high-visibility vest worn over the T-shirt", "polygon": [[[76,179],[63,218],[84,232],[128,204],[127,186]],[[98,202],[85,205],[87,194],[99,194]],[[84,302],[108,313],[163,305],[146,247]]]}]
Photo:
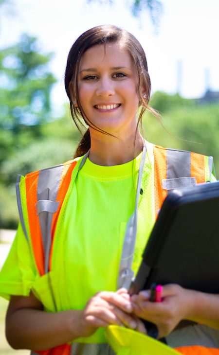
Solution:
[{"label": "orange, grey and lime high-visibility vest worn over the T-shirt", "polygon": [[[171,189],[182,188],[186,186],[194,186],[196,183],[209,181],[213,169],[213,158],[206,157],[200,154],[191,153],[182,150],[175,150],[163,148],[146,142],[146,150],[143,156],[147,155],[150,162],[154,216],[157,215],[164,198]],[[55,243],[55,228],[61,209],[65,208],[66,196],[71,194],[75,177],[79,169],[85,162],[88,154],[84,157],[76,158],[75,160],[67,161],[64,164],[43,169],[34,173],[27,174],[25,177],[18,176],[16,191],[18,199],[18,211],[20,215],[20,222],[25,234],[25,237],[30,245],[30,250],[36,264],[37,272],[40,277],[43,277],[52,269],[53,246]],[[144,157],[145,159],[145,157]],[[145,165],[144,160],[140,163],[139,176],[142,175]],[[147,160],[147,161],[148,161]],[[140,174],[141,171],[141,174]],[[136,216],[138,208],[138,196],[141,190],[141,177],[138,179],[136,208],[133,215],[130,217],[128,224],[129,232],[136,229]],[[155,218],[154,218],[155,219]],[[128,230],[128,228],[127,228]],[[127,235],[128,231],[126,232]],[[129,264],[123,263],[123,254],[127,251],[126,235],[124,237],[124,247],[122,251],[118,287],[130,282],[133,276],[130,259]],[[129,238],[130,239],[130,238]],[[128,248],[135,248],[135,245],[128,246]],[[129,255],[129,254],[128,254]],[[128,259],[124,257],[124,260]],[[115,271],[116,272],[116,271]],[[80,290],[79,290],[80,292]],[[51,300],[54,295],[51,295]],[[54,300],[53,300],[54,301]],[[52,301],[51,301],[52,302]],[[77,340],[77,339],[76,339]],[[86,339],[80,338],[80,343],[83,341],[87,343]],[[84,344],[86,352],[79,351],[80,354],[97,354],[95,346],[102,346],[104,344],[97,344],[98,339],[94,344]],[[42,355],[74,355],[77,352],[77,344],[64,344],[54,349],[32,352],[32,354]],[[194,344],[193,354],[219,354],[219,350],[214,349],[214,352],[209,353],[210,348],[196,346]],[[88,346],[91,346],[88,348]],[[198,349],[196,352],[195,349]],[[213,347],[212,347],[213,348]],[[90,350],[89,350],[90,349]],[[98,354],[112,354],[100,352]],[[179,348],[183,354],[190,354],[191,347]],[[200,352],[202,351],[202,352]],[[208,351],[208,352],[206,352]],[[213,350],[212,350],[213,351]]]}]

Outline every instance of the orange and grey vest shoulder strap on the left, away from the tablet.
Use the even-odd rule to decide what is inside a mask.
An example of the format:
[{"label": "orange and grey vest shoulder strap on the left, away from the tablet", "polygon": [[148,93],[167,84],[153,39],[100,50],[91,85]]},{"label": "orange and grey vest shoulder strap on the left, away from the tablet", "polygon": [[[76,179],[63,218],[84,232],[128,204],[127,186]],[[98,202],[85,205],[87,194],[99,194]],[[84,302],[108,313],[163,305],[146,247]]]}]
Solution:
[{"label": "orange and grey vest shoulder strap on the left, away from the tablet", "polygon": [[25,177],[18,176],[16,191],[20,221],[33,249],[40,275],[49,271],[57,217],[73,170],[78,167],[80,160],[81,157],[27,174]]}]

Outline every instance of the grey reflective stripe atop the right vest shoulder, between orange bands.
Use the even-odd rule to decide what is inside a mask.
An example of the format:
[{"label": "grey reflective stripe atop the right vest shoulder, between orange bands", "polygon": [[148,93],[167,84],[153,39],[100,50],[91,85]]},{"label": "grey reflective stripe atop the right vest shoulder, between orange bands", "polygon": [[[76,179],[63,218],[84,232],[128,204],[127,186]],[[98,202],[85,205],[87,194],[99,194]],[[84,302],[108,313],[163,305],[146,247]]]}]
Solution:
[{"label": "grey reflective stripe atop the right vest shoulder, between orange bands", "polygon": [[190,177],[191,155],[185,150],[167,148],[166,150],[166,178]]}]

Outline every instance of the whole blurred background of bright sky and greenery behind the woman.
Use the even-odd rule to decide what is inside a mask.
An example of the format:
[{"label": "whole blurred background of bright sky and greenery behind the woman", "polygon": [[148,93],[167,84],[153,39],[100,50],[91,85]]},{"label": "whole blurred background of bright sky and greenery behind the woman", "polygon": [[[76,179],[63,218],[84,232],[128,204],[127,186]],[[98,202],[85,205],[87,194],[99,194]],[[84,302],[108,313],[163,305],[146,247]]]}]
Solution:
[{"label": "whole blurred background of bright sky and greenery behind the woman", "polygon": [[[0,267],[18,224],[17,175],[73,157],[80,135],[65,64],[73,41],[93,26],[123,27],[145,49],[151,106],[164,124],[146,114],[146,139],[212,155],[219,175],[218,18],[218,0],[0,0]],[[2,355],[15,354],[4,337],[5,307],[1,300]]]}]

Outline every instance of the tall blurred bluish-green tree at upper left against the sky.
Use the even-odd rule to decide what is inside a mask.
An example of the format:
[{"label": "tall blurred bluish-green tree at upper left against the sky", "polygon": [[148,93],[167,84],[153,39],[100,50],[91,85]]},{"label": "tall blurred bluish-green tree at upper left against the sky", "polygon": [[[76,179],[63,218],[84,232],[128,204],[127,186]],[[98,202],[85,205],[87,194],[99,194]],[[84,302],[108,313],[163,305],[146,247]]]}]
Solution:
[{"label": "tall blurred bluish-green tree at upper left against the sky", "polygon": [[18,134],[22,125],[46,122],[55,77],[47,69],[52,54],[40,54],[37,39],[22,35],[0,51],[0,128]]}]

